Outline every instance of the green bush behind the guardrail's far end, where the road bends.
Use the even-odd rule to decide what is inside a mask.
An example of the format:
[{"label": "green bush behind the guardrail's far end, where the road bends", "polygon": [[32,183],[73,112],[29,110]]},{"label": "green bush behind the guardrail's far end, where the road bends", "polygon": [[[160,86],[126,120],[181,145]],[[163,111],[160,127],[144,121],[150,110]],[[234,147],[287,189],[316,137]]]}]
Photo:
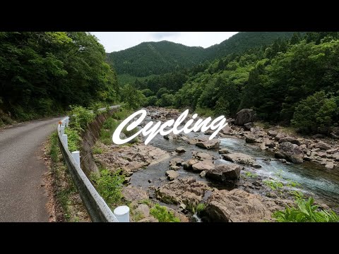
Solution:
[{"label": "green bush behind the guardrail's far end, where the road bends", "polygon": [[71,116],[71,121],[69,122],[70,127],[77,131],[85,130],[88,123],[95,118],[95,114],[81,106],[71,106],[71,112],[69,114]]}]

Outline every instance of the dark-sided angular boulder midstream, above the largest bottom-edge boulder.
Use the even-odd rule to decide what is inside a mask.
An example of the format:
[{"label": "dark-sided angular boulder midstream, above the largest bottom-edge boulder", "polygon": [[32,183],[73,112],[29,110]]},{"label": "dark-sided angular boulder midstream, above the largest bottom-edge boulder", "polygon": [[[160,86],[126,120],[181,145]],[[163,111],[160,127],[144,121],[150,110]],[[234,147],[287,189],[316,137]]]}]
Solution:
[{"label": "dark-sided angular boulder midstream, above the largest bottom-edge boulder", "polygon": [[239,180],[242,169],[244,167],[237,164],[219,164],[206,172],[206,178],[220,182]]}]

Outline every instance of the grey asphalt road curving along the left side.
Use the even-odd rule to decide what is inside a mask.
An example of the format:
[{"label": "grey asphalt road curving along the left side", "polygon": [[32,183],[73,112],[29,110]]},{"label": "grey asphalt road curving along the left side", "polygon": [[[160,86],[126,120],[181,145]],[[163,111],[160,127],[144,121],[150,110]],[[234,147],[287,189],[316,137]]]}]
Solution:
[{"label": "grey asphalt road curving along the left side", "polygon": [[42,144],[59,119],[0,130],[0,222],[48,222]]}]

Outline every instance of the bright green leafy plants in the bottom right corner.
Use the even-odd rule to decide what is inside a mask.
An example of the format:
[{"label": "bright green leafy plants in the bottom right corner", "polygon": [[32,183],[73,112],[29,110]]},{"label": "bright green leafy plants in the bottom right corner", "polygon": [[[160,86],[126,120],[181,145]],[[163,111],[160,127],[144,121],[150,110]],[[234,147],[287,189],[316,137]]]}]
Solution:
[{"label": "bright green leafy plants in the bottom right corner", "polygon": [[278,222],[339,222],[338,214],[332,210],[319,210],[314,199],[295,200],[297,207],[286,207],[283,211],[273,213]]}]

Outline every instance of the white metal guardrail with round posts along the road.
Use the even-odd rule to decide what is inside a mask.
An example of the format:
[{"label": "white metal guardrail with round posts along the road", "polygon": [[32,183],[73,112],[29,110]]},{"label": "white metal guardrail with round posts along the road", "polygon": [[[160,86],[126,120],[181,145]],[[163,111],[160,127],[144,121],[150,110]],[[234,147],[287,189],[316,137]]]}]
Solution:
[{"label": "white metal guardrail with round posts along the road", "polygon": [[[109,109],[116,109],[117,107],[119,106],[111,106]],[[100,111],[104,110],[100,109]],[[92,222],[129,222],[129,207],[117,207],[113,213],[81,169],[80,152],[69,151],[67,135],[64,133],[65,128],[68,126],[69,116],[66,116],[61,120],[61,124],[58,124],[57,128],[59,145],[71,177],[90,215],[90,219]]]}]

